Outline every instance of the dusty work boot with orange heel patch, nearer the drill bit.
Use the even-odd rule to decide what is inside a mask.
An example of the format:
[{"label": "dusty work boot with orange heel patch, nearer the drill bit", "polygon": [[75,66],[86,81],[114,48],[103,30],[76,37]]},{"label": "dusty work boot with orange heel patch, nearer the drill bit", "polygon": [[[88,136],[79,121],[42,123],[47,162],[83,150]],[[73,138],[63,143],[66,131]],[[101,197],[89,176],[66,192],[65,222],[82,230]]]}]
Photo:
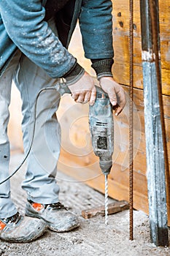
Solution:
[{"label": "dusty work boot with orange heel patch, nearer the drill bit", "polygon": [[77,217],[68,211],[61,203],[34,203],[28,200],[26,216],[43,219],[50,230],[66,232],[79,226]]}]

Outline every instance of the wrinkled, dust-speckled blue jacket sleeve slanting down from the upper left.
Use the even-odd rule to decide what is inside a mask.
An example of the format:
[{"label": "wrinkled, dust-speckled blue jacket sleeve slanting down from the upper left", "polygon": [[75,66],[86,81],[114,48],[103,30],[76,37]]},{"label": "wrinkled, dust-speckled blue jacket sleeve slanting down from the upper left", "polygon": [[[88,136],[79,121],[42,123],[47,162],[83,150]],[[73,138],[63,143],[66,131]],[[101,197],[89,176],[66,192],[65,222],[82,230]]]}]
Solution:
[{"label": "wrinkled, dust-speckled blue jacket sleeve slanting down from the upper left", "polygon": [[1,0],[0,12],[15,45],[52,78],[63,77],[74,66],[76,59],[44,21],[41,0]]}]

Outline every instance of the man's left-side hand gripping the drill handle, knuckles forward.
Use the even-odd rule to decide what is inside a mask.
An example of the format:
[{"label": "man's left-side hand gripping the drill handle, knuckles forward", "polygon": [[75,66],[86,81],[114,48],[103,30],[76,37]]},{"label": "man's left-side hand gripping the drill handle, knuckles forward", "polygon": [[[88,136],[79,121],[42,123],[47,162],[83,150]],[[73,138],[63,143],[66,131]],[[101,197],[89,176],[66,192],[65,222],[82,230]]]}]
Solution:
[{"label": "man's left-side hand gripping the drill handle, knuckles forward", "polygon": [[96,88],[94,86],[93,78],[91,78],[87,72],[85,72],[80,80],[68,87],[75,102],[82,104],[89,102],[90,105],[94,104],[96,99]]}]

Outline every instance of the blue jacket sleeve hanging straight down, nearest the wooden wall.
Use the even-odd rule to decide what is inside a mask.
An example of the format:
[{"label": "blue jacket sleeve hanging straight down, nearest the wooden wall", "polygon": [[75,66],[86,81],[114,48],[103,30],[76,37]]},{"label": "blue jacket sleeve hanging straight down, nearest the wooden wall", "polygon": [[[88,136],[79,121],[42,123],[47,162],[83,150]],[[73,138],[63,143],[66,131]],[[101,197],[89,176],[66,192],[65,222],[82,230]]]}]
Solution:
[{"label": "blue jacket sleeve hanging straight down, nearest the wooden wall", "polygon": [[111,0],[82,0],[80,29],[86,58],[113,57]]}]

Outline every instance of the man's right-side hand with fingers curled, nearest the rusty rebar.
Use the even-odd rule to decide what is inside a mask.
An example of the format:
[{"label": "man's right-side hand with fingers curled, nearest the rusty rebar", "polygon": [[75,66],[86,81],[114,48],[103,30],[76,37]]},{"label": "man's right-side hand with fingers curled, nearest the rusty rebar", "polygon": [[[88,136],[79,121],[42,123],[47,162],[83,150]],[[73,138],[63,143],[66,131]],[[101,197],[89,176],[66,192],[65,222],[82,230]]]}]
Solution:
[{"label": "man's right-side hand with fingers curled, nearest the rusty rebar", "polygon": [[113,78],[100,78],[101,88],[108,94],[109,100],[115,110],[115,116],[119,115],[125,107],[125,91]]}]

